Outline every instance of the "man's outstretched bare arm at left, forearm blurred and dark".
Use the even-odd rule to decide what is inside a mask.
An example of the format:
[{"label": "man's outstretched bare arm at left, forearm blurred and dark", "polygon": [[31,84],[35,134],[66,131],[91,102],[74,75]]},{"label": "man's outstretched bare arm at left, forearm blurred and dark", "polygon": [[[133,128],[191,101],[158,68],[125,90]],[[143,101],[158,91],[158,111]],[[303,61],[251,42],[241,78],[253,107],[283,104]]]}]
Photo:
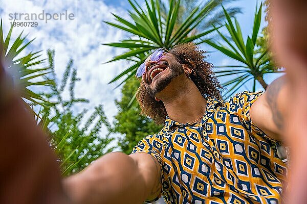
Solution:
[{"label": "man's outstretched bare arm at left, forearm blurred and dark", "polygon": [[143,203],[161,191],[149,154],[105,155],[62,180],[46,136],[13,90],[0,60],[0,203]]}]

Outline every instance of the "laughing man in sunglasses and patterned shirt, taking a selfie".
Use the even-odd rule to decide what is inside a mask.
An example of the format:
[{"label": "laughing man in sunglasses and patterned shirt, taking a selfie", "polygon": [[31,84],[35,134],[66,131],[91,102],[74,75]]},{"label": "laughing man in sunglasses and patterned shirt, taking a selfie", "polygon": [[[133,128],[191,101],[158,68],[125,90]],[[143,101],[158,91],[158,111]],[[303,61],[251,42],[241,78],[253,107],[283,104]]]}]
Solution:
[{"label": "laughing man in sunglasses and patterned shirt, taking a selfie", "polygon": [[[243,92],[226,102],[211,67],[192,43],[156,50],[138,69],[138,101],[143,113],[165,120],[163,129],[133,154],[105,155],[68,177],[63,191],[50,179],[59,190],[48,193],[72,203],[142,203],[161,195],[167,203],[279,203],[287,176],[277,154],[286,83],[277,79],[266,93]],[[22,122],[27,113],[12,101],[2,105],[8,111],[1,118],[18,110]]]}]

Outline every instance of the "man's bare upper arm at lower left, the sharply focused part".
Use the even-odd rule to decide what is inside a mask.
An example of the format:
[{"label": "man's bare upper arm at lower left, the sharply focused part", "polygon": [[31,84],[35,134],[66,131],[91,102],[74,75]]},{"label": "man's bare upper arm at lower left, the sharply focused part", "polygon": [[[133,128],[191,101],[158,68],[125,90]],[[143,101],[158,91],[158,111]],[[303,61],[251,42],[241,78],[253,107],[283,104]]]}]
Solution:
[{"label": "man's bare upper arm at lower left, the sharply focused part", "polygon": [[107,154],[80,173],[64,180],[75,203],[143,203],[161,191],[161,168],[149,154]]}]

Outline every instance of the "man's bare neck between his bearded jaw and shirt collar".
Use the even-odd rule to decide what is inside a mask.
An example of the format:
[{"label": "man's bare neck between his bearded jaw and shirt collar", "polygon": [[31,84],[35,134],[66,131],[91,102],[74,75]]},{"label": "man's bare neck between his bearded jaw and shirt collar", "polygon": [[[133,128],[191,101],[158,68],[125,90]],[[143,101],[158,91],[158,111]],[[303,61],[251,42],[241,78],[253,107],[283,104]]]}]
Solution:
[{"label": "man's bare neck between his bearded jaw and shirt collar", "polygon": [[177,86],[167,86],[163,90],[167,95],[161,96],[168,116],[180,123],[200,120],[206,111],[206,99],[185,75],[174,80]]}]

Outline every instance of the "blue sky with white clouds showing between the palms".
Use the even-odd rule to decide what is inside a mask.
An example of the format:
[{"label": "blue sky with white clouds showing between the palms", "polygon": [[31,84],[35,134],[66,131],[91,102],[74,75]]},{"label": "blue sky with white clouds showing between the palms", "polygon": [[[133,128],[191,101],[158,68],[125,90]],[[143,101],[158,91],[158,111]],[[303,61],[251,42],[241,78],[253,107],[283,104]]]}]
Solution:
[{"label": "blue sky with white clouds showing between the palms", "polygon": [[[143,1],[139,2],[142,3]],[[243,13],[238,14],[237,19],[242,25],[244,36],[251,34],[256,4],[257,1],[254,0],[239,0],[232,5],[242,8]],[[110,121],[117,113],[114,101],[120,98],[120,88],[114,90],[116,84],[108,85],[107,83],[127,67],[127,62],[103,64],[115,55],[121,54],[123,50],[103,46],[101,43],[118,42],[125,39],[127,34],[109,27],[103,23],[103,20],[114,21],[111,12],[128,17],[127,9],[129,9],[129,5],[126,0],[0,0],[0,16],[3,19],[6,34],[11,22],[9,20],[10,13],[39,14],[42,11],[45,13],[63,13],[67,10],[68,13],[74,14],[74,20],[50,20],[48,23],[38,20],[38,27],[16,27],[13,30],[12,37],[15,38],[22,30],[25,34],[29,33],[28,39],[36,38],[30,49],[42,50],[42,58],[47,57],[47,49],[55,49],[55,70],[59,79],[69,59],[72,58],[78,71],[78,77],[82,79],[76,85],[76,96],[91,101],[85,107],[84,105],[76,106],[76,111],[83,108],[93,110],[95,106],[102,104]],[[265,22],[262,20],[261,27],[264,25]],[[212,50],[206,45],[202,45],[201,48]],[[237,62],[218,52],[210,53],[207,60],[214,65],[237,64]],[[270,83],[276,77],[277,75],[272,75],[265,80]],[[243,87],[242,90],[246,88],[248,87]],[[256,88],[262,90],[260,85],[257,85]],[[68,91],[65,96],[69,96]],[[89,111],[90,113],[91,111]]]}]

